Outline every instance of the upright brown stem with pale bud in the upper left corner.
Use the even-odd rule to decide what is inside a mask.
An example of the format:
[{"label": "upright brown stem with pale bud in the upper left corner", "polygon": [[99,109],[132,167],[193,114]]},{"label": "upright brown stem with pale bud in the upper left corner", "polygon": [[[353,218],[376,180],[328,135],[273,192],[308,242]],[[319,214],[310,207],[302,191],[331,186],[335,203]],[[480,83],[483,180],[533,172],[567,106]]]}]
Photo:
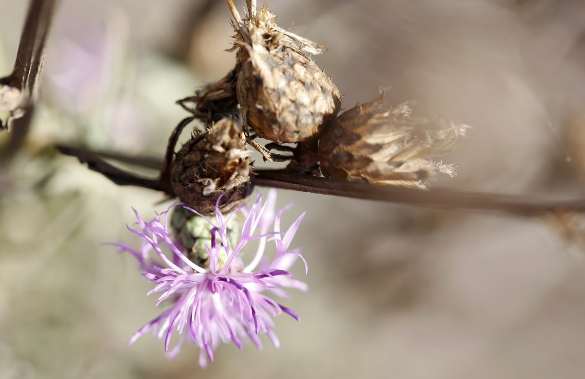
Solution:
[{"label": "upright brown stem with pale bud in the upper left corner", "polygon": [[[37,92],[37,81],[43,68],[47,38],[53,15],[59,0],[31,0],[26,14],[25,25],[20,35],[18,53],[14,70],[9,77],[0,79],[0,105],[11,112],[8,119],[2,121],[0,130],[11,126],[12,121],[31,113]],[[10,99],[3,94],[18,94]],[[30,117],[21,123],[19,133],[26,134]]]}]

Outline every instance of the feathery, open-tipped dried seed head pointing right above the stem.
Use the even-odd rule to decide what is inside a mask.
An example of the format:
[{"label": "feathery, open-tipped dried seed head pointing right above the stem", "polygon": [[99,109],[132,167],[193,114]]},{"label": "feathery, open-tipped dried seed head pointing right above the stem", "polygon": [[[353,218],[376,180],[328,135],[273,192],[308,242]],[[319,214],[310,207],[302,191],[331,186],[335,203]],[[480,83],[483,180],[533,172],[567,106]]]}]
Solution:
[{"label": "feathery, open-tipped dried seed head pointing right above the stem", "polygon": [[[429,161],[455,147],[467,125],[452,121],[410,117],[402,103],[383,109],[384,93],[357,105],[331,123],[319,141],[321,172],[327,178],[376,185],[424,188],[434,172],[454,176],[450,165]],[[413,135],[414,127],[435,127],[424,135]]]}]

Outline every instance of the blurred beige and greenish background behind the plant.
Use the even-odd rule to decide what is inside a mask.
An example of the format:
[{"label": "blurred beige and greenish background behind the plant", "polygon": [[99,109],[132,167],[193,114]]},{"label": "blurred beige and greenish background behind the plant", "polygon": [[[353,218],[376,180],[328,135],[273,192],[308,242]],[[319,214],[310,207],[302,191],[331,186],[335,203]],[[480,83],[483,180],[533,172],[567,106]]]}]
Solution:
[{"label": "blurred beige and greenish background behind the plant", "polygon": [[[26,3],[0,0],[0,76]],[[585,196],[583,1],[270,8],[329,48],[315,60],[345,109],[386,86],[417,101],[413,114],[473,127],[443,157],[458,176],[435,186]],[[149,217],[167,204],[53,146],[161,157],[186,116],[174,102],[233,67],[232,34],[224,1],[61,1],[32,128],[18,145],[0,134],[0,379],[585,377],[584,248],[559,228],[284,190],[289,222],[308,210],[293,245],[309,273],[293,272],[309,291],[285,302],[302,321],[277,318],[280,349],[224,345],[202,370],[194,346],[174,361],[150,334],[127,347],[160,310],[136,262],[100,244],[137,245],[130,207]]]}]

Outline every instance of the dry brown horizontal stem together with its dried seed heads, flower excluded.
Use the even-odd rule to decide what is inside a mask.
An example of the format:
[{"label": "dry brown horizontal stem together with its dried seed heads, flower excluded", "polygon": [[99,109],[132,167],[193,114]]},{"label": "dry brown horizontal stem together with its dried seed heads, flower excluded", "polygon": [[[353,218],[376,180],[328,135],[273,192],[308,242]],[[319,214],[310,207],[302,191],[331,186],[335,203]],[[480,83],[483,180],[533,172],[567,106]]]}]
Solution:
[{"label": "dry brown horizontal stem together with its dried seed heads, flower excluded", "polygon": [[[233,0],[228,0],[236,31],[233,50],[238,50],[235,67],[219,81],[196,91],[194,96],[179,100],[192,116],[181,121],[171,135],[164,161],[160,162],[159,178],[141,178],[124,172],[80,149],[60,147],[61,151],[87,162],[91,169],[119,185],[163,191],[202,212],[212,211],[211,205],[222,193],[225,196],[219,206],[226,211],[232,201],[244,201],[253,185],[531,216],[550,210],[583,208],[581,201],[542,202],[499,194],[413,190],[422,189],[433,173],[453,175],[452,166],[434,159],[452,150],[467,126],[411,116],[408,103],[389,107],[384,104],[383,95],[336,118],[339,91],[309,57],[309,54],[322,53],[324,48],[277,26],[267,6],[257,11],[256,1],[247,0],[246,5],[248,15],[242,18]],[[229,132],[221,133],[227,133],[237,142],[230,142],[229,147],[213,148],[216,142],[204,142],[207,137],[203,138],[202,134],[198,138],[203,140],[187,142],[175,156],[178,135],[194,119],[202,121],[209,130],[214,128],[214,123],[231,123]],[[209,136],[209,131],[205,135]],[[254,141],[256,137],[273,142],[264,147]],[[220,140],[224,144],[229,138]],[[286,169],[255,169],[244,140],[267,161],[291,163]],[[291,147],[281,142],[296,145]],[[271,150],[290,154],[276,154]],[[220,158],[229,151],[237,154]],[[213,169],[206,163],[211,156],[218,158]],[[117,158],[139,161],[123,155]],[[226,166],[220,169],[221,165]],[[248,174],[252,175],[248,177]],[[404,186],[411,189],[399,188]]]}]

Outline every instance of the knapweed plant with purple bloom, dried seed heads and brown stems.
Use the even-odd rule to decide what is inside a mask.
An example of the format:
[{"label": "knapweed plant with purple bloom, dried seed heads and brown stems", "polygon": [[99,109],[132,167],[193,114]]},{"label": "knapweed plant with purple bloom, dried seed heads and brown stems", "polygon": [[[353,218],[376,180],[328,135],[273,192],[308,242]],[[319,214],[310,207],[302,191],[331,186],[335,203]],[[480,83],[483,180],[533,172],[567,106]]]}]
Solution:
[{"label": "knapweed plant with purple bloom, dried seed heads and brown stems", "polygon": [[[46,26],[33,28],[29,39],[23,33],[17,63],[36,68],[25,70],[35,73],[30,79],[36,79],[42,67],[53,3],[44,2],[51,6],[43,11],[43,2],[35,0],[29,11],[31,23]],[[389,105],[384,89],[338,114],[340,91],[311,57],[323,53],[324,47],[278,26],[266,5],[257,9],[255,0],[246,0],[246,5],[242,17],[228,0],[235,31],[234,67],[219,81],[178,100],[190,115],[171,134],[158,178],[142,178],[82,149],[60,147],[119,185],[178,198],[150,221],[136,214],[136,224],[128,228],[140,244],[115,244],[136,258],[142,275],[153,282],[150,293],[159,295],[156,305],[164,308],[129,343],[153,331],[173,357],[188,341],[201,349],[201,366],[214,359],[222,342],[242,347],[251,339],[260,347],[259,335],[264,334],[279,345],[273,318],[283,312],[298,317],[273,296],[288,297],[285,288],[307,288],[288,272],[295,259],[304,261],[298,249],[290,248],[304,213],[287,230],[281,229],[284,210],[275,210],[275,190],[266,202],[259,196],[252,206],[246,205],[254,185],[524,216],[585,209],[582,200],[426,190],[436,173],[454,175],[453,166],[435,159],[452,150],[468,127],[412,115],[408,102]],[[0,83],[0,107],[8,107],[12,119],[23,108],[12,80],[22,77],[20,71],[10,77],[11,85]],[[25,100],[28,109],[32,97]],[[181,132],[191,123],[199,127],[176,152]],[[285,169],[256,169],[253,149],[264,161],[289,163]],[[267,249],[273,254],[264,255]],[[177,335],[171,349],[171,338]]]}]

